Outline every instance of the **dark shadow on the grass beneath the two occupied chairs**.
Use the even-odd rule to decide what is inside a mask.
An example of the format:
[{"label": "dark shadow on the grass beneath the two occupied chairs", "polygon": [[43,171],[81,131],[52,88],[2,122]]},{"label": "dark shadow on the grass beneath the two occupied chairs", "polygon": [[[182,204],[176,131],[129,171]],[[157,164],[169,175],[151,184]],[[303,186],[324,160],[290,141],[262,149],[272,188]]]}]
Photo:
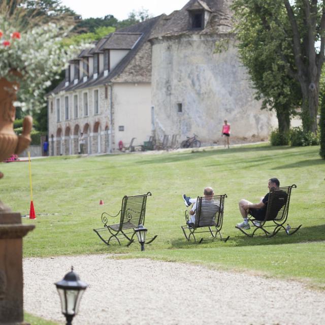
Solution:
[{"label": "dark shadow on the grass beneath the two occupied chairs", "polygon": [[[295,225],[296,226],[296,225]],[[298,243],[306,243],[306,242],[316,242],[316,241],[324,241],[325,240],[325,224],[321,225],[314,225],[310,227],[304,227],[302,228],[292,236],[287,236],[285,232],[281,231],[276,236],[267,238],[265,236],[254,236],[253,238],[247,237],[244,234],[242,234],[238,230],[238,234],[235,236],[230,236],[229,240],[224,243],[220,240],[208,240],[207,236],[199,236],[199,234],[196,236],[197,242],[194,242],[193,239],[191,239],[190,242],[188,242],[185,237],[183,239],[175,239],[172,241],[172,248],[196,248],[196,247],[205,247],[205,244],[210,243],[209,247],[211,247],[211,243],[219,243],[218,247],[222,247],[222,245],[226,246],[232,246],[232,247],[243,247],[243,246],[259,246],[259,245],[283,245],[283,244],[298,244]],[[226,233],[223,234],[223,237],[226,237]],[[202,244],[199,244],[200,239],[203,238]]]}]

